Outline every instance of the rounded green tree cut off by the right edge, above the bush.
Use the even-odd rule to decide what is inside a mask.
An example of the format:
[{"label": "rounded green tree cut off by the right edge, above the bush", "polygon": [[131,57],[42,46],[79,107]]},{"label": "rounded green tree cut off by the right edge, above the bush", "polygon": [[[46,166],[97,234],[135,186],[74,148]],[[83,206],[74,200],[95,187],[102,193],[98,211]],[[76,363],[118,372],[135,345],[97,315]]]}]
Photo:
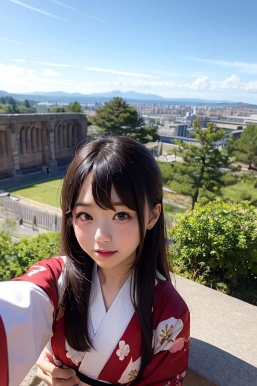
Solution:
[{"label": "rounded green tree cut off by the right edge, above the bush", "polygon": [[234,153],[249,169],[257,167],[257,126],[248,125],[243,129],[240,138],[234,141]]}]

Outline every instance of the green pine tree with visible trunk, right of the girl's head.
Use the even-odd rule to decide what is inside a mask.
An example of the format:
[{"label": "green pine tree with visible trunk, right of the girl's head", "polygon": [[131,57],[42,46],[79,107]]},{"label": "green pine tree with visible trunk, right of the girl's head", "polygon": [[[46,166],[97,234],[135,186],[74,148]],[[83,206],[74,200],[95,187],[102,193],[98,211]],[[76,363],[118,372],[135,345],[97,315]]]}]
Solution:
[{"label": "green pine tree with visible trunk, right of the girl's head", "polygon": [[202,128],[198,121],[194,121],[193,137],[199,145],[176,141],[178,148],[172,150],[180,155],[183,162],[175,161],[171,164],[172,180],[169,186],[179,186],[180,193],[192,198],[192,208],[201,198],[202,203],[214,199],[223,185],[223,168],[231,166],[229,152],[225,147],[219,148],[215,143],[222,140],[224,130],[208,123]]}]

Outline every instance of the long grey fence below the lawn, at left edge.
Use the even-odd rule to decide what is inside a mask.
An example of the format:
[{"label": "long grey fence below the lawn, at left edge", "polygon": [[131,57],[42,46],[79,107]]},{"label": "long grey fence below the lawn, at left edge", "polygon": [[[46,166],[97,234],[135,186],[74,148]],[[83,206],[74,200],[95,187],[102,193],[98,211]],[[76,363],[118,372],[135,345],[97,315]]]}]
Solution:
[{"label": "long grey fence below the lawn, at left edge", "polygon": [[21,204],[18,201],[13,201],[9,197],[1,198],[0,200],[0,216],[4,218],[14,217],[20,221],[20,224],[25,222],[49,231],[61,231],[61,215]]}]

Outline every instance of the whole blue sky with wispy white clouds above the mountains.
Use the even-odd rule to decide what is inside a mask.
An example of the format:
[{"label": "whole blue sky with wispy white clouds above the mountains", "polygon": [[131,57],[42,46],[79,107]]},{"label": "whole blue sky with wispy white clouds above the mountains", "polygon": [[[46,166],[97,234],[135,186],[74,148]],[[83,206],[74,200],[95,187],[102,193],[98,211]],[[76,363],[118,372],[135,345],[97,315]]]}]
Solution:
[{"label": "whole blue sky with wispy white clouds above the mountains", "polygon": [[257,104],[257,1],[1,0],[0,89]]}]

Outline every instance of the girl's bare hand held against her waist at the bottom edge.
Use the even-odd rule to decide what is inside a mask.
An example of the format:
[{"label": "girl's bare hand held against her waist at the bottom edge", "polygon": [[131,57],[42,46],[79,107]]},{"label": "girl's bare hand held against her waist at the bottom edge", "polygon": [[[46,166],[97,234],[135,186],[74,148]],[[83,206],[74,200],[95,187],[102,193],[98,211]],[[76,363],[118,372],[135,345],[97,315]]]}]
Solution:
[{"label": "girl's bare hand held against her waist at the bottom edge", "polygon": [[48,386],[74,386],[80,382],[75,370],[55,365],[53,356],[47,348],[44,348],[40,354],[36,366],[38,367],[37,376]]}]

